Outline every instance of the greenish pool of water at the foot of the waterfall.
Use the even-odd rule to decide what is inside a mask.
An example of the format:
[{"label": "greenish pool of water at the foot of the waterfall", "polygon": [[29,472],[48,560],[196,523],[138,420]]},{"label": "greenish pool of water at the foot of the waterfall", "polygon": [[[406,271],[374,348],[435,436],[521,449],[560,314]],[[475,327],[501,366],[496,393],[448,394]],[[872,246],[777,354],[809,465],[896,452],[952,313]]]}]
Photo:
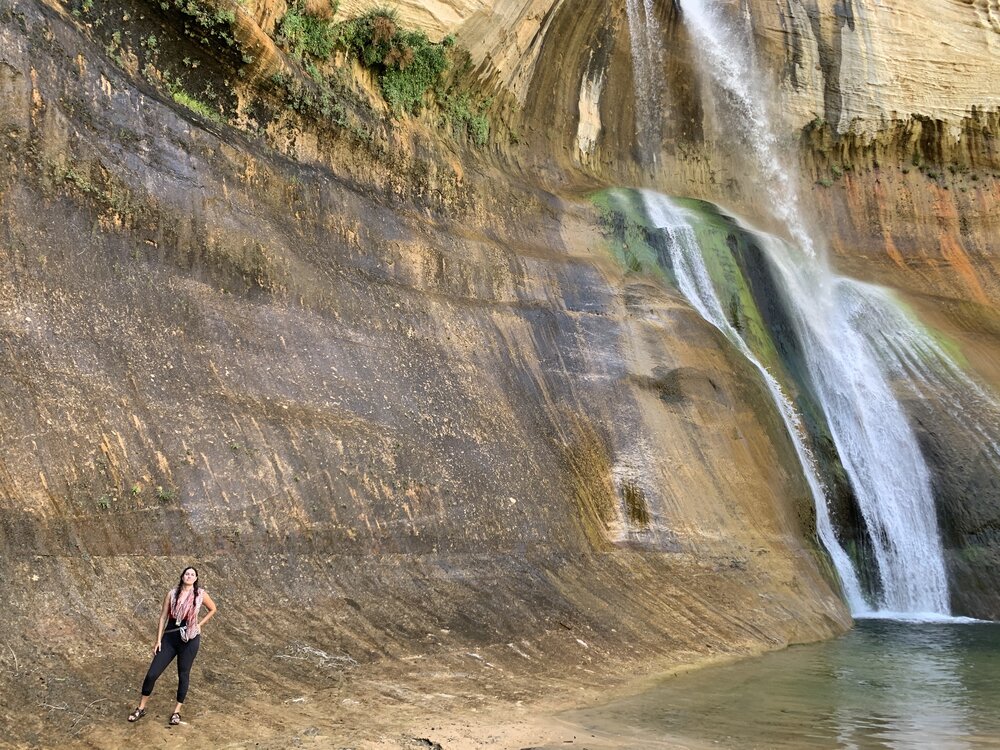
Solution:
[{"label": "greenish pool of water at the foot of the waterfall", "polygon": [[859,621],[562,718],[595,750],[1000,748],[1000,624]]}]

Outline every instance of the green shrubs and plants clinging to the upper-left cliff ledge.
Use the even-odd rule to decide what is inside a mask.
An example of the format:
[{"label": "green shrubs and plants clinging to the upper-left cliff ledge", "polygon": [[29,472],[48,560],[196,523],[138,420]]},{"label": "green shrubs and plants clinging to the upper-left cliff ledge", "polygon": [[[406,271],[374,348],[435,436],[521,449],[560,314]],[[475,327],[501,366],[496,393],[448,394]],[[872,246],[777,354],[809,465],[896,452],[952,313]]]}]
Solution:
[{"label": "green shrubs and plants clinging to the upper-left cliff ledge", "polygon": [[[66,5],[120,68],[140,73],[181,106],[242,129],[266,127],[261,104],[267,92],[246,88],[254,80],[246,77],[246,68],[260,53],[238,33],[237,15],[245,11],[204,0],[162,0],[147,11],[107,0],[66,0]],[[488,142],[491,100],[477,95],[465,77],[468,52],[453,37],[432,42],[423,31],[405,28],[388,7],[346,21],[335,20],[337,10],[336,0],[328,9],[299,0],[278,21],[275,42],[305,73],[285,68],[269,77],[276,87],[271,96],[277,93],[281,106],[369,142],[378,123],[426,109],[437,113],[437,124],[475,145]],[[180,35],[173,33],[178,20]],[[388,118],[352,81],[345,65],[350,60],[371,72],[389,105]]]}]

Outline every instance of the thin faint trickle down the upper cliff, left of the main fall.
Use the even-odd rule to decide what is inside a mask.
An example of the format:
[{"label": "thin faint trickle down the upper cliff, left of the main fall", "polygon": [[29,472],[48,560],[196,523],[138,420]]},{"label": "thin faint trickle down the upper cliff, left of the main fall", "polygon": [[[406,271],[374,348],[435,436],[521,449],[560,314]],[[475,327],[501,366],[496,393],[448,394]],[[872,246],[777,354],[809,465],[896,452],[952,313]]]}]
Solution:
[{"label": "thin faint trickle down the upper cliff, left of the main fall", "polygon": [[660,152],[663,44],[653,0],[625,0],[635,79],[635,130],[639,155],[655,164]]}]

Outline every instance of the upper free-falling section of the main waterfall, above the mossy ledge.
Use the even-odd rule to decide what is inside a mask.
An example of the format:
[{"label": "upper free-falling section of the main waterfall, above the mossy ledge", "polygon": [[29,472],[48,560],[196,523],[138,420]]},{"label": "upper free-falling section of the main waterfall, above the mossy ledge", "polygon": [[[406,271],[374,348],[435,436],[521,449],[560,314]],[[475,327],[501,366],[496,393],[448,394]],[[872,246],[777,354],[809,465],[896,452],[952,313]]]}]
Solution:
[{"label": "upper free-falling section of the main waterfall, above the mossy ledge", "polygon": [[799,247],[815,255],[812,238],[802,221],[794,176],[780,157],[768,97],[761,95],[765,86],[754,65],[748,24],[744,22],[742,32],[734,27],[721,7],[724,4],[721,0],[680,0],[684,24],[701,53],[704,72],[722,95],[717,101],[729,110],[733,130],[754,157],[776,218],[788,227]]}]

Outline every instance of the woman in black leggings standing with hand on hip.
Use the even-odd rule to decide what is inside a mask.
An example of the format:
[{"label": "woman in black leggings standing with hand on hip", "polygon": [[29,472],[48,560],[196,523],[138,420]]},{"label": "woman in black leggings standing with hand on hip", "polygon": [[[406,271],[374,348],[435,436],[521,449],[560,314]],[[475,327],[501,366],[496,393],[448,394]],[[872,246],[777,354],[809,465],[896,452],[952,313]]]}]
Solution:
[{"label": "woman in black leggings standing with hand on hip", "polygon": [[[198,622],[198,612],[202,605],[208,613],[201,622]],[[170,723],[181,723],[181,705],[184,703],[184,696],[187,695],[191,665],[194,664],[198,646],[201,645],[201,626],[211,620],[216,611],[212,597],[205,589],[198,586],[198,571],[194,568],[184,568],[177,588],[170,589],[163,598],[160,625],[156,631],[156,644],[153,646],[153,663],[149,665],[146,679],[142,681],[142,698],[138,707],[129,714],[129,721],[138,721],[146,715],[146,702],[153,693],[156,678],[176,656],[177,705],[170,716]]]}]

